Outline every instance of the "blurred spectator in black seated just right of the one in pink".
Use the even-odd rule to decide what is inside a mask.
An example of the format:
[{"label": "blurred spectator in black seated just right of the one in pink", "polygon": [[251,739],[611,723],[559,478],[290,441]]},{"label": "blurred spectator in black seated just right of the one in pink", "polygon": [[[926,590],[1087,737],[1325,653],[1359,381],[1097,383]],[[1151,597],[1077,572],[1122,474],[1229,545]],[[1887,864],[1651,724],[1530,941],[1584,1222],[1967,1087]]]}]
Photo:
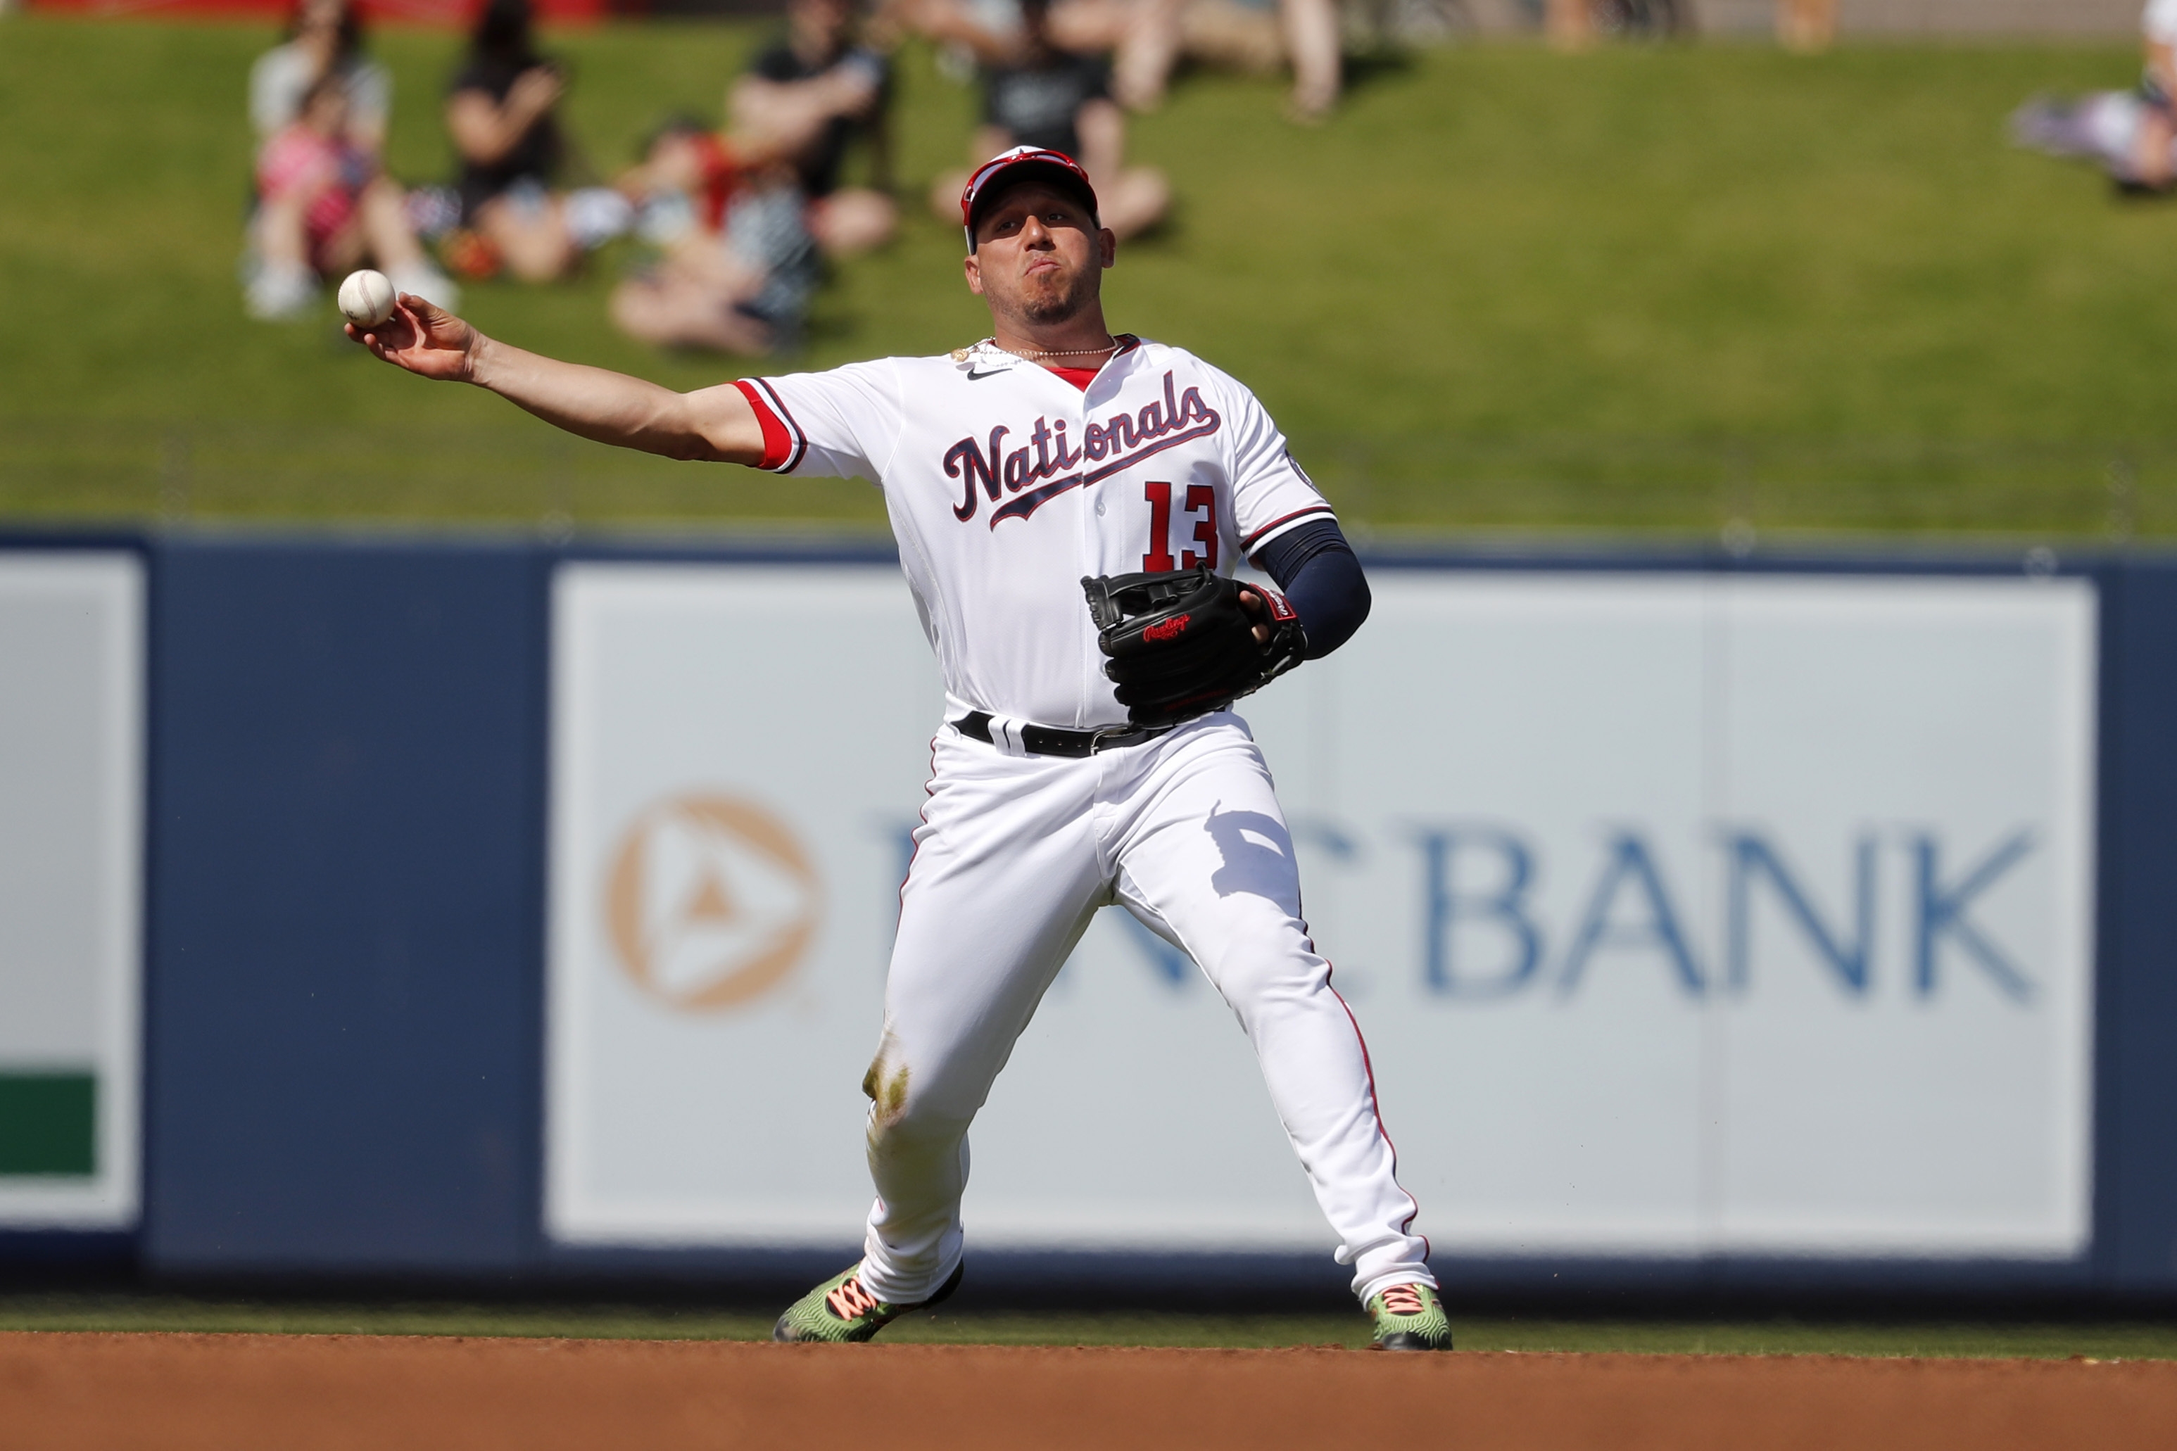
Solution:
[{"label": "blurred spectator in black seated just right of the one in pink", "polygon": [[462,272],[490,276],[505,263],[542,283],[579,261],[566,198],[553,191],[566,159],[555,115],[564,94],[566,76],[536,50],[529,0],[490,0],[446,96],[466,228],[448,239],[446,257]]}]

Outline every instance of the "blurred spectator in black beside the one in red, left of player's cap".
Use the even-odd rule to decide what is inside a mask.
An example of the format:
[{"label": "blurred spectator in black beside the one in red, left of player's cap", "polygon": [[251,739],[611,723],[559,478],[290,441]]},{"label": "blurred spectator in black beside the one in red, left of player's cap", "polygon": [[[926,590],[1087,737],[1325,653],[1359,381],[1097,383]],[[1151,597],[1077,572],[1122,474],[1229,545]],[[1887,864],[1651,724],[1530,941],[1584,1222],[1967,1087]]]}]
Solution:
[{"label": "blurred spectator in black beside the one in red, left of player's cap", "polygon": [[[788,163],[808,198],[808,231],[829,257],[882,246],[899,222],[890,187],[890,65],[856,44],[853,0],[792,0],[786,35],[727,96],[742,157]],[[871,187],[840,187],[847,148],[866,141]]]}]

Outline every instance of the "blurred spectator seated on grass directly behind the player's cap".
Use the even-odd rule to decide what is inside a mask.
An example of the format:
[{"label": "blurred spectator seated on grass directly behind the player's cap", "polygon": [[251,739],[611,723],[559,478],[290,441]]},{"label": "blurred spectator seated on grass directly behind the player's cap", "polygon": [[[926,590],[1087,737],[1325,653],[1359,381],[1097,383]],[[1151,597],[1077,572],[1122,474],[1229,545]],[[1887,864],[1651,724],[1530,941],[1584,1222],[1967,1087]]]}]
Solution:
[{"label": "blurred spectator seated on grass directly behind the player's cap", "polygon": [[1110,67],[1056,41],[1045,0],[1021,0],[1019,13],[1019,33],[1006,35],[960,0],[917,4],[914,24],[923,33],[967,46],[982,65],[982,126],[969,144],[969,165],[938,176],[930,207],[956,222],[971,168],[1010,146],[1045,146],[1082,163],[1112,233],[1132,237],[1156,226],[1171,187],[1156,168],[1126,165],[1126,113],[1110,98]]}]

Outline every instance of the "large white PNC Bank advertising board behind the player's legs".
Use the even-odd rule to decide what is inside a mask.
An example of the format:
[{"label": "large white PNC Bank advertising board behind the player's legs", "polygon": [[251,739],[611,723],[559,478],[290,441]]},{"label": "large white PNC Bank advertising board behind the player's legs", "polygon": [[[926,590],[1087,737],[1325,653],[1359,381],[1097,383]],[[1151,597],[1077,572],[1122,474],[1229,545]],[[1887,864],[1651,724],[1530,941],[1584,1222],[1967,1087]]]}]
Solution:
[{"label": "large white PNC Bank advertising board behind the player's legs", "polygon": [[[1417,1227],[1454,1253],[2070,1257],[2083,581],[1378,570],[1243,703]],[[940,696],[880,568],[555,583],[546,1225],[845,1244]],[[1106,911],[973,1242],[1330,1249],[1208,983]]]}]

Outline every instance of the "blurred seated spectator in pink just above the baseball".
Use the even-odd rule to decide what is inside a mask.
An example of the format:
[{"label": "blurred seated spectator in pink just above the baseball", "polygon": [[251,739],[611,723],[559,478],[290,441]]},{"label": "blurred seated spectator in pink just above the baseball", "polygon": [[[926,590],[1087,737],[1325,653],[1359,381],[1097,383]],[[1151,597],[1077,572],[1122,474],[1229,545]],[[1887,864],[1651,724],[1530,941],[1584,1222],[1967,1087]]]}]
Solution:
[{"label": "blurred seated spectator in pink just above the baseball", "polygon": [[422,255],[401,189],[355,144],[348,83],[333,70],[303,91],[300,115],[257,154],[255,318],[307,311],[320,278],[377,263],[394,287],[451,307],[455,287]]}]

